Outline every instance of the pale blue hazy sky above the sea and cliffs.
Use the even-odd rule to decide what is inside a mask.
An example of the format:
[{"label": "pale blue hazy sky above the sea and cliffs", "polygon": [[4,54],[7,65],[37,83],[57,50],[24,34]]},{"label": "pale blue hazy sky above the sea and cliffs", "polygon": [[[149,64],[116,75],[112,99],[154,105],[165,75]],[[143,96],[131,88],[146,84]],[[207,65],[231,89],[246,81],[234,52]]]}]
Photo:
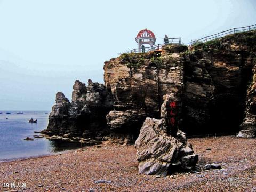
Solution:
[{"label": "pale blue hazy sky above the sea and cliffs", "polygon": [[0,0],[0,110],[51,111],[76,79],[103,83],[103,63],[137,48],[142,29],[188,44],[255,13],[255,0]]}]

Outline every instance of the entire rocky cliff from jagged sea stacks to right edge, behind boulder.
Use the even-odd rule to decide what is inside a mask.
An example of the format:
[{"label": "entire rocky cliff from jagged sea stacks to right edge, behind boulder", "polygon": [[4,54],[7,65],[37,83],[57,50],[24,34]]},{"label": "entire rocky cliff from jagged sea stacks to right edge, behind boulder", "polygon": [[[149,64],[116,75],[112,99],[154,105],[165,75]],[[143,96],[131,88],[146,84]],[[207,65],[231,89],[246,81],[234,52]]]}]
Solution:
[{"label": "entire rocky cliff from jagged sea stacks to right edge, behind boulder", "polygon": [[180,118],[173,120],[187,134],[242,129],[240,136],[254,137],[255,43],[255,32],[246,32],[189,50],[167,45],[162,52],[122,54],[105,62],[105,85],[76,81],[71,103],[57,93],[45,132],[134,142],[146,117],[161,119],[163,96],[173,93],[180,101]]}]

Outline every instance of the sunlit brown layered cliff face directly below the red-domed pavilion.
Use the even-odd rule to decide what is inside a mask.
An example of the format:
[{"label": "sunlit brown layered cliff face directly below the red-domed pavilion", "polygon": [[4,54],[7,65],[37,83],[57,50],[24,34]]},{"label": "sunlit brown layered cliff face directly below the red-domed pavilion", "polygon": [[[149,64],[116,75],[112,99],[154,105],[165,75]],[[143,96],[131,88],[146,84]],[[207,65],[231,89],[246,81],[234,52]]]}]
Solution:
[{"label": "sunlit brown layered cliff face directly below the red-domed pavilion", "polygon": [[[163,95],[183,93],[183,60],[186,46],[165,47],[160,53],[123,54],[105,62],[104,79],[114,97],[107,115],[112,140],[134,141],[146,117],[160,118]],[[173,53],[177,52],[177,53]]]}]

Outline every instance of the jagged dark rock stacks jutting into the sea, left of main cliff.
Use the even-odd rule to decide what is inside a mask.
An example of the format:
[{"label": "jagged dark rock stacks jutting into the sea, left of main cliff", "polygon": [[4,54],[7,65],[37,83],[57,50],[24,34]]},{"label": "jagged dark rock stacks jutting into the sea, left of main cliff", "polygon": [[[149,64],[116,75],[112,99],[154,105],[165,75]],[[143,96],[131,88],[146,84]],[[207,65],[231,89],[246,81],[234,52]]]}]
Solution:
[{"label": "jagged dark rock stacks jutting into the sea, left of main cliff", "polygon": [[90,79],[87,87],[77,80],[73,89],[71,103],[63,93],[56,94],[56,104],[44,133],[98,139],[109,135],[106,115],[113,106],[111,93],[103,84]]}]

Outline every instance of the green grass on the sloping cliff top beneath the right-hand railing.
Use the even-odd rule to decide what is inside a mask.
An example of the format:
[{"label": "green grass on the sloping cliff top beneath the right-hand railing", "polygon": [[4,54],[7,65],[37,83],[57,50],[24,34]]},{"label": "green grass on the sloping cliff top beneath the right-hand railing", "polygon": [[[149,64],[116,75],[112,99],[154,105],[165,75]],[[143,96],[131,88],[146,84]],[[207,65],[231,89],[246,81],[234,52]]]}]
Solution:
[{"label": "green grass on the sloping cliff top beneath the right-hand railing", "polygon": [[251,46],[254,48],[256,47],[256,30],[230,34],[220,39],[213,39],[212,41],[206,43],[198,42],[193,45],[193,49],[218,52],[225,49],[225,43],[227,42]]}]

